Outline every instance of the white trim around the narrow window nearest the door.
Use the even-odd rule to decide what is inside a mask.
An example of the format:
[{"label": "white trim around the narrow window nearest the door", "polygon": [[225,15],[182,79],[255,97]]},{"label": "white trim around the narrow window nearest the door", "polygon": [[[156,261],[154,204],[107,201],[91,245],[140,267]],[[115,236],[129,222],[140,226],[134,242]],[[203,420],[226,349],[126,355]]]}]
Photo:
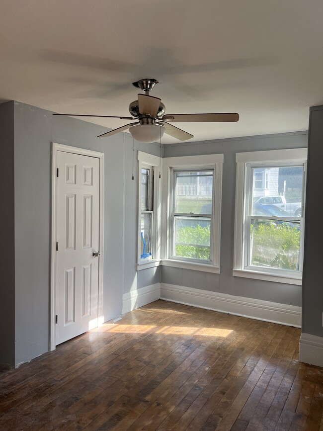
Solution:
[{"label": "white trim around the narrow window nearest the door", "polygon": [[[137,229],[137,271],[141,269],[153,268],[161,263],[161,180],[159,178],[159,168],[162,169],[162,159],[153,154],[138,151],[138,229]],[[154,172],[154,217],[153,217],[153,256],[151,259],[143,262],[141,255],[141,170],[145,167],[152,167]]]}]

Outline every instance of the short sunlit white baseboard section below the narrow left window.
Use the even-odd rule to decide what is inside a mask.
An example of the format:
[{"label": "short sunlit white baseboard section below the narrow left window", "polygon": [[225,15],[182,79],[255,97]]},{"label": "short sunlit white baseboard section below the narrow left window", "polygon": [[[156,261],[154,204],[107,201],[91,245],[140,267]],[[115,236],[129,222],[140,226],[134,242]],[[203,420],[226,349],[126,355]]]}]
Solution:
[{"label": "short sunlit white baseboard section below the narrow left window", "polygon": [[125,293],[122,296],[122,314],[129,313],[129,311],[157,301],[160,299],[160,296],[161,283],[151,284],[150,286]]}]

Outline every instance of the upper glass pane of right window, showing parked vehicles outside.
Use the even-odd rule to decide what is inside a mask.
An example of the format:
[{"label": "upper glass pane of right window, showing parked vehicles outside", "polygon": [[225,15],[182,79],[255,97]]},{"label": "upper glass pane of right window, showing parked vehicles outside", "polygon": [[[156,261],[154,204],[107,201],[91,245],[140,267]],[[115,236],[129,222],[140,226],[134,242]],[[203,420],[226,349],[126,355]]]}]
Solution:
[{"label": "upper glass pane of right window, showing parked vehicles outside", "polygon": [[303,166],[251,168],[251,178],[250,215],[301,217]]}]

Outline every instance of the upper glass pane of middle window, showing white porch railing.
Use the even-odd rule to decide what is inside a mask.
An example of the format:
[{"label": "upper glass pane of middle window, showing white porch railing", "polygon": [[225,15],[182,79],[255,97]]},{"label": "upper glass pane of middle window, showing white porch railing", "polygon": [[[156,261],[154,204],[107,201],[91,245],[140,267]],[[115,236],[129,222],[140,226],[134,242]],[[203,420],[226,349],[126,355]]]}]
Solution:
[{"label": "upper glass pane of middle window, showing white porch railing", "polygon": [[212,214],[213,171],[174,173],[174,212]]}]

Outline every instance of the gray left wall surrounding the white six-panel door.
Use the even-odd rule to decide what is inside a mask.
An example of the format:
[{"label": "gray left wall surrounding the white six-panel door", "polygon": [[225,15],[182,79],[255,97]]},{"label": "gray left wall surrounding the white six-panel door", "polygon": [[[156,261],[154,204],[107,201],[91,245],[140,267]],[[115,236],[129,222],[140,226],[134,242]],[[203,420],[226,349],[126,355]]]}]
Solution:
[{"label": "gray left wall surrounding the white six-panel door", "polygon": [[[136,280],[133,262],[138,216],[134,190],[138,179],[136,173],[135,181],[131,180],[132,139],[124,142],[123,134],[97,139],[104,131],[101,126],[53,117],[49,111],[14,102],[15,270],[11,272],[15,289],[11,279],[10,295],[15,293],[15,314],[11,318],[15,316],[16,343],[14,361],[7,356],[11,365],[28,361],[49,348],[51,142],[104,153],[104,320],[121,314],[124,291],[153,284],[159,278],[148,271],[140,273],[138,283]],[[135,155],[137,146],[159,154],[157,145],[136,143]],[[7,165],[11,176],[12,151],[11,147],[11,166]],[[10,195],[12,200],[12,188]],[[13,248],[13,241],[11,244]],[[125,264],[125,259],[132,264]],[[131,280],[135,283],[130,285]]]}]

